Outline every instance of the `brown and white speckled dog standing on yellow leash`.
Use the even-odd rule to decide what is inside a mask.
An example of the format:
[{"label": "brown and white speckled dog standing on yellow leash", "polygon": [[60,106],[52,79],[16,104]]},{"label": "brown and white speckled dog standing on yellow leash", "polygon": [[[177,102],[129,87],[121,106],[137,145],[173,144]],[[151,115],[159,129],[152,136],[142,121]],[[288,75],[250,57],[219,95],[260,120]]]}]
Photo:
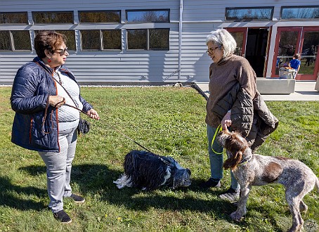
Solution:
[{"label": "brown and white speckled dog standing on yellow leash", "polygon": [[232,169],[240,183],[240,200],[237,210],[230,217],[240,221],[246,214],[247,198],[252,186],[281,183],[285,186],[286,200],[292,213],[292,227],[289,231],[301,231],[304,220],[300,212],[308,209],[302,199],[314,186],[319,192],[318,177],[311,169],[304,163],[287,157],[253,154],[245,138],[237,132],[221,131],[218,140],[226,148],[228,155],[223,167]]}]

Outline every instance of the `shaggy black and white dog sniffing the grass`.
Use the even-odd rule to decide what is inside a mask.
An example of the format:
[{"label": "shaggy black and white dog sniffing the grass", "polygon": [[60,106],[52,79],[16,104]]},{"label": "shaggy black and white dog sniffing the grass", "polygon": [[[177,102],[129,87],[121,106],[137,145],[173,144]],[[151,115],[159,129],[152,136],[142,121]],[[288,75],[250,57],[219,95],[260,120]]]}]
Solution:
[{"label": "shaggy black and white dog sniffing the grass", "polygon": [[159,186],[171,188],[190,186],[190,169],[185,169],[172,157],[131,150],[124,159],[124,174],[113,181],[117,188],[136,187],[154,190]]}]

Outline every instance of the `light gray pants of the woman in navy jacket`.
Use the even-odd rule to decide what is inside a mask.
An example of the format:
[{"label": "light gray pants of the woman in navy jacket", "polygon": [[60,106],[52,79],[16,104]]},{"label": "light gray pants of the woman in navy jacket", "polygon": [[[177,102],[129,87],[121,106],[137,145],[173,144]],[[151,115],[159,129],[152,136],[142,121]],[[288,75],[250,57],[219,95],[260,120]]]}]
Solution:
[{"label": "light gray pants of the woman in navy jacket", "polygon": [[70,197],[72,160],[77,146],[77,128],[59,131],[60,153],[39,152],[46,164],[46,182],[53,213],[63,210],[63,198]]}]

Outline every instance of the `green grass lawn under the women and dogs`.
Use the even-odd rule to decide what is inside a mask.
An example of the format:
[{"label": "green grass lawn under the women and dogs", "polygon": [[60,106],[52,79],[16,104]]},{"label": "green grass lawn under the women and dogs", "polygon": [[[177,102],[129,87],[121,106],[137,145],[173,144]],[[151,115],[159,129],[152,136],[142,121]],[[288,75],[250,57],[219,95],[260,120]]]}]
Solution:
[{"label": "green grass lawn under the women and dogs", "polygon": [[[82,87],[82,96],[101,120],[79,137],[72,168],[72,188],[86,198],[82,205],[65,200],[72,224],[63,225],[48,210],[46,169],[41,157],[11,143],[14,112],[10,87],[0,88],[0,231],[287,231],[292,217],[280,185],[253,187],[247,216],[230,219],[236,207],[218,198],[230,186],[229,170],[222,188],[203,190],[209,178],[204,97],[192,88]],[[268,101],[278,129],[258,150],[262,155],[299,159],[319,176],[319,102]],[[192,171],[188,188],[139,191],[117,189],[124,156],[141,150],[112,127],[152,152],[171,155]],[[318,231],[319,193],[304,198],[306,231]]]}]

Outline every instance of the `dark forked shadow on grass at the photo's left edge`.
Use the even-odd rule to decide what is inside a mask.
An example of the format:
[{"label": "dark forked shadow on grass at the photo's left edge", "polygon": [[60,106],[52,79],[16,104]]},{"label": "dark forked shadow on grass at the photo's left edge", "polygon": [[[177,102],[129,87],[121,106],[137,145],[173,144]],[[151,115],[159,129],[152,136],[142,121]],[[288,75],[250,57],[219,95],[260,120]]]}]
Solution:
[{"label": "dark forked shadow on grass at the photo's left edge", "polygon": [[[36,187],[20,187],[11,183],[6,176],[0,176],[0,205],[13,207],[18,210],[43,210],[46,205],[43,202],[21,199],[21,195],[46,194],[46,191]],[[15,195],[19,195],[15,196]]]}]

